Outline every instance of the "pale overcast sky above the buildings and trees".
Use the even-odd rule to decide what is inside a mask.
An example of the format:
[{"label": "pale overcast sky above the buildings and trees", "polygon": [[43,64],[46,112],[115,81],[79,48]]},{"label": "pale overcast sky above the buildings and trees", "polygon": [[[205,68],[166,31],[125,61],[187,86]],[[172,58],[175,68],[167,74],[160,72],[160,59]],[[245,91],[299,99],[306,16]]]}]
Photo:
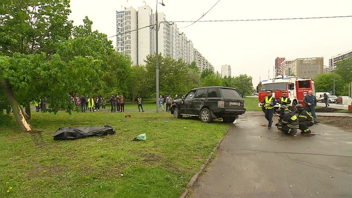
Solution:
[{"label": "pale overcast sky above the buildings and trees", "polygon": [[[197,20],[218,0],[163,0],[158,12],[167,21]],[[156,0],[145,0],[155,12]],[[137,10],[143,0],[71,0],[70,20],[81,24],[85,16],[93,29],[116,34],[116,11],[132,6]],[[161,2],[161,0],[159,0]],[[122,9],[121,9],[122,8]],[[201,20],[238,20],[301,18],[352,15],[352,0],[220,0]],[[179,22],[178,27],[190,22]],[[196,22],[180,28],[194,47],[215,67],[230,65],[232,76],[247,74],[253,86],[273,77],[276,57],[286,59],[331,56],[352,49],[352,18],[311,19],[264,22]],[[116,45],[116,37],[110,38]]]}]

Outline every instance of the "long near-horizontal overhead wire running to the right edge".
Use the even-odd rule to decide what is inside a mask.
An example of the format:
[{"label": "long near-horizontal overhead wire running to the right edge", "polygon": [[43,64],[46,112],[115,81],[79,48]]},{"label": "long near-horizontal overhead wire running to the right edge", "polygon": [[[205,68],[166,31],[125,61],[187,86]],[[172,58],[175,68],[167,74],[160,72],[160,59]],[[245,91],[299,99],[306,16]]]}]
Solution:
[{"label": "long near-horizontal overhead wire running to the right edge", "polygon": [[352,16],[279,18],[279,19],[236,19],[236,20],[207,20],[207,21],[171,21],[171,22],[251,22],[251,21],[283,21],[283,20],[305,20],[305,19],[331,19],[331,18],[350,18],[350,17],[352,17]]}]

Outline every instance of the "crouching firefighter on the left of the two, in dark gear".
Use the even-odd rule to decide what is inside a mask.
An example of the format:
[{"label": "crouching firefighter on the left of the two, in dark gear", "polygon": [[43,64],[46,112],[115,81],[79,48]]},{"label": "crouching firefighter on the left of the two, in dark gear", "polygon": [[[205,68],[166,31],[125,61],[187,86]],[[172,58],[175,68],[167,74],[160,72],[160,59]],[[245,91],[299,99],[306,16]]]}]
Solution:
[{"label": "crouching firefighter on the left of the two, in dark gear", "polygon": [[297,129],[299,129],[299,123],[296,114],[288,110],[286,105],[282,105],[280,110],[281,114],[279,123],[277,124],[278,130],[290,136],[295,135],[297,133]]}]

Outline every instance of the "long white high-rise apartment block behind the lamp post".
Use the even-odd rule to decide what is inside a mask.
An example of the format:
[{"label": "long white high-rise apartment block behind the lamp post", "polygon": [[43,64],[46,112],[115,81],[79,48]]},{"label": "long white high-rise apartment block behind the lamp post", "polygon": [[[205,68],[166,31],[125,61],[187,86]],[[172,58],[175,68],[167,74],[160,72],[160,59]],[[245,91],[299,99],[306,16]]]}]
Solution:
[{"label": "long white high-rise apartment block behind the lamp post", "polygon": [[[145,65],[146,57],[155,53],[154,24],[155,14],[148,5],[138,7],[137,11],[132,7],[116,11],[116,50],[128,54],[133,65]],[[167,22],[165,14],[158,13],[158,24],[158,53],[176,60],[181,58],[187,64],[195,61],[193,43],[179,32],[176,23]],[[205,67],[210,65],[205,59],[204,63]],[[203,67],[200,64],[199,70]]]}]

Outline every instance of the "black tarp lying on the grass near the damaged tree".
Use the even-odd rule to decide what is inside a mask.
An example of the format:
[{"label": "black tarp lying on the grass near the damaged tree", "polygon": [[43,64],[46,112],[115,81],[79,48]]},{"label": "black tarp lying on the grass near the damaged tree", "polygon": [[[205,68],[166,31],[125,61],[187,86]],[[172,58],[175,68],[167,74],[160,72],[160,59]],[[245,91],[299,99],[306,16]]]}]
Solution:
[{"label": "black tarp lying on the grass near the damaged tree", "polygon": [[113,134],[115,134],[115,129],[109,125],[105,125],[104,127],[59,128],[53,137],[54,140],[73,140],[88,136],[103,136]]}]

